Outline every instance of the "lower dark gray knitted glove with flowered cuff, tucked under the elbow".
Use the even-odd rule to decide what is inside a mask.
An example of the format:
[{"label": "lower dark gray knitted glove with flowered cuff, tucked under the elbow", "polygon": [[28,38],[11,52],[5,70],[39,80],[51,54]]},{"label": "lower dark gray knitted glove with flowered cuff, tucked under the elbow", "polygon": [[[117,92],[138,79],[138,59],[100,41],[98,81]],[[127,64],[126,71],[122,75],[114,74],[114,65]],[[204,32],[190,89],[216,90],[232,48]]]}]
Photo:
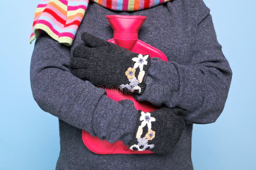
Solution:
[{"label": "lower dark gray knitted glove with flowered cuff, tucked under the elbow", "polygon": [[183,114],[186,111],[178,107],[163,107],[150,113],[139,110],[137,131],[128,147],[136,151],[148,149],[158,154],[168,153],[185,129]]}]

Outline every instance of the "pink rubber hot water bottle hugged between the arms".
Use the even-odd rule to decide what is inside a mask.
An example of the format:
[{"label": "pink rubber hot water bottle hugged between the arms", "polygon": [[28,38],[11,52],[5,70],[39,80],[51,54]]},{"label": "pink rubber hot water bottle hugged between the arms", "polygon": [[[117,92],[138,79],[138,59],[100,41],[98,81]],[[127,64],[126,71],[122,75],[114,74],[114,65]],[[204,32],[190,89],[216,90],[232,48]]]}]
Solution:
[{"label": "pink rubber hot water bottle hugged between the arms", "polygon": [[[107,15],[109,24],[114,31],[114,38],[109,39],[109,42],[117,44],[135,53],[143,55],[149,54],[150,57],[158,57],[161,60],[167,61],[167,57],[157,48],[138,39],[138,32],[146,17],[144,16],[122,16],[122,15]],[[132,66],[131,66],[132,67]],[[124,99],[132,100],[134,107],[137,110],[144,112],[154,111],[157,108],[148,102],[137,102],[131,94],[124,95],[116,89],[106,89],[107,96],[115,101]],[[92,137],[89,132],[82,131],[82,139],[84,145],[94,153],[98,154],[145,154],[153,153],[149,150],[133,151],[129,149],[122,141],[109,143],[107,140],[100,140],[98,137]]]}]

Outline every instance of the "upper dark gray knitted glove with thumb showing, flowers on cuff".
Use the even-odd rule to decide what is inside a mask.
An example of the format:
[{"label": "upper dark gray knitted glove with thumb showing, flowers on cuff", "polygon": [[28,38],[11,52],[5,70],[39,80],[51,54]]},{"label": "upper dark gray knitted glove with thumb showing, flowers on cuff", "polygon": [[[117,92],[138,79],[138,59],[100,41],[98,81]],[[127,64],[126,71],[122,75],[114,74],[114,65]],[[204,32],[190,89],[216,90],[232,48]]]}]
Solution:
[{"label": "upper dark gray knitted glove with thumb showing, flowers on cuff", "polygon": [[143,78],[150,66],[149,55],[133,53],[88,32],[82,33],[81,38],[86,46],[76,46],[71,58],[72,73],[76,77],[95,86],[143,93]]}]

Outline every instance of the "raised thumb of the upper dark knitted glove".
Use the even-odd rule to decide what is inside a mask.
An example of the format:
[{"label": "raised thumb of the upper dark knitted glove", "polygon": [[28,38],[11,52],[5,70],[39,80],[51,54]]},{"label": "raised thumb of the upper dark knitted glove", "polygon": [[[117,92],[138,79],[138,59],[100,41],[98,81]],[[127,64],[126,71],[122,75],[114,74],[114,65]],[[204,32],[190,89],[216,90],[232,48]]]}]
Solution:
[{"label": "raised thumb of the upper dark knitted glove", "polygon": [[100,39],[90,34],[89,32],[83,32],[81,35],[81,39],[85,42],[87,46],[90,46],[90,47],[100,47],[100,46],[110,45],[110,42]]}]

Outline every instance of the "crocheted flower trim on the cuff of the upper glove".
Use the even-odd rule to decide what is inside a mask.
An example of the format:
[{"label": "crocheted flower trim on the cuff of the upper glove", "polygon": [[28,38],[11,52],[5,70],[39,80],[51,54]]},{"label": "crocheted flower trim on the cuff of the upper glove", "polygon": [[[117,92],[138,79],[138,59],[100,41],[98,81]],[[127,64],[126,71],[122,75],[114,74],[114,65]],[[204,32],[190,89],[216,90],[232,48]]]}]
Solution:
[{"label": "crocheted flower trim on the cuff of the upper glove", "polygon": [[133,67],[127,68],[124,73],[127,76],[127,83],[121,84],[119,88],[124,92],[136,92],[142,94],[145,90],[145,81],[150,66],[149,54],[143,56],[139,54],[137,57],[132,58],[134,61]]}]

